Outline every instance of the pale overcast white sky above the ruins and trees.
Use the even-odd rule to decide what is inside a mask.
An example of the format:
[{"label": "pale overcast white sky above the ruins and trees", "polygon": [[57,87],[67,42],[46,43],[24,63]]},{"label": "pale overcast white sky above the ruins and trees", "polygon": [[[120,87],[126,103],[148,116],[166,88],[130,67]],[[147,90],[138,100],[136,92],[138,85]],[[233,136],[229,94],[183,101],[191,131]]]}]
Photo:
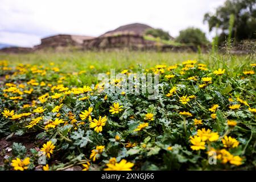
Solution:
[{"label": "pale overcast white sky above the ruins and trees", "polygon": [[130,23],[162,28],[171,36],[199,27],[225,0],[0,0],[0,43],[32,47],[55,34],[99,36]]}]

